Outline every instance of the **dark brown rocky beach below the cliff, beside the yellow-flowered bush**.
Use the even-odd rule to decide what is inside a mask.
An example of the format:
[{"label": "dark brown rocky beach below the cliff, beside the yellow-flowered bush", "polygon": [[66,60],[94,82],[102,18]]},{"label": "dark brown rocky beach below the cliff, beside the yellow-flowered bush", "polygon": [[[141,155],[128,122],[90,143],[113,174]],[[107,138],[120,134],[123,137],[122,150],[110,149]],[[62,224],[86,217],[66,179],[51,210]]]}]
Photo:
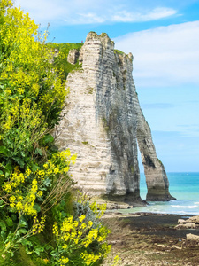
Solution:
[{"label": "dark brown rocky beach below the cliff, beside the yellow-flowered bush", "polygon": [[189,233],[199,236],[199,229],[175,229],[179,219],[192,215],[106,213],[103,223],[111,228],[112,246],[104,266],[119,255],[120,266],[199,265],[199,243],[188,240]]}]

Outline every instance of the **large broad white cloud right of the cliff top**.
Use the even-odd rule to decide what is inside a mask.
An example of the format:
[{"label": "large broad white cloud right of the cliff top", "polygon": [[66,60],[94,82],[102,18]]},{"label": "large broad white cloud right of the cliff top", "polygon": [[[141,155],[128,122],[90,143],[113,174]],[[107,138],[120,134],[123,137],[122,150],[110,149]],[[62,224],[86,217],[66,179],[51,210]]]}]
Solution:
[{"label": "large broad white cloud right of the cliff top", "polygon": [[139,86],[199,85],[199,20],[135,32],[115,39],[116,48],[134,54]]}]

